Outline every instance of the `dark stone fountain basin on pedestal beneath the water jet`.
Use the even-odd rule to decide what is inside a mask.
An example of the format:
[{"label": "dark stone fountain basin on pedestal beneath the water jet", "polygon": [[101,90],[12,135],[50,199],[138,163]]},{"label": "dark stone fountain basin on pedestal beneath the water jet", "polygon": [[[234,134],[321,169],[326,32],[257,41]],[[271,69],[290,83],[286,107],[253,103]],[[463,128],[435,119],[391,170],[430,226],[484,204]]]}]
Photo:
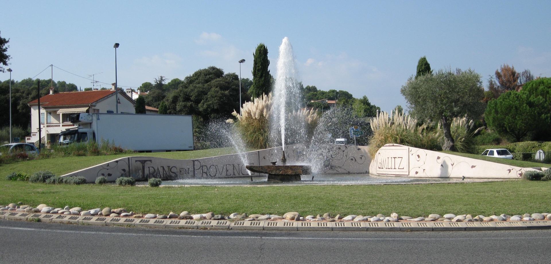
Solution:
[{"label": "dark stone fountain basin on pedestal beneath the water jet", "polygon": [[268,182],[300,182],[300,175],[310,175],[310,166],[306,165],[247,165],[251,172],[268,174]]}]

